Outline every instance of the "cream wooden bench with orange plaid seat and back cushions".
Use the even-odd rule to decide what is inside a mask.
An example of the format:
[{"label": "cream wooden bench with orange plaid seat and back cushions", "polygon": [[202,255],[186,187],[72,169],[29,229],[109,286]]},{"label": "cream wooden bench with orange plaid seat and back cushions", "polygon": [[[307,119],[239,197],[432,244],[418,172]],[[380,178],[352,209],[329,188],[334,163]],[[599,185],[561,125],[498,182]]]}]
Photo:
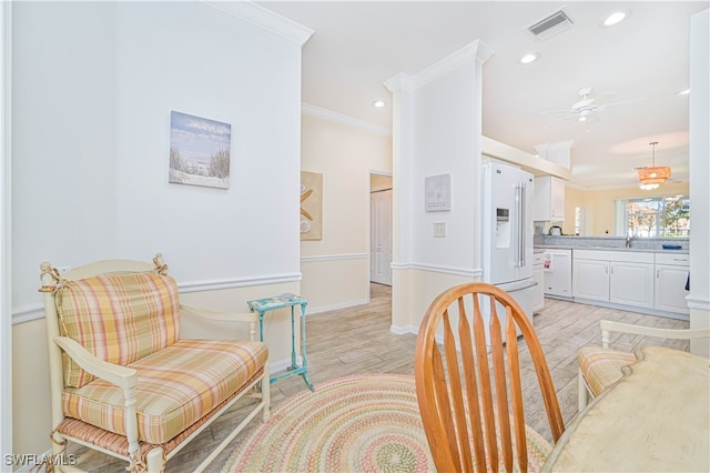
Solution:
[{"label": "cream wooden bench with orange plaid seat and back cushions", "polygon": [[[126,460],[130,471],[162,471],[236,401],[256,397],[200,471],[260,411],[268,419],[268,350],[254,341],[256,316],[181,305],[166,269],[160,253],[152,264],[102,261],[61,276],[42,263],[53,461],[70,440]],[[247,322],[251,340],[181,339],[187,314]]]}]

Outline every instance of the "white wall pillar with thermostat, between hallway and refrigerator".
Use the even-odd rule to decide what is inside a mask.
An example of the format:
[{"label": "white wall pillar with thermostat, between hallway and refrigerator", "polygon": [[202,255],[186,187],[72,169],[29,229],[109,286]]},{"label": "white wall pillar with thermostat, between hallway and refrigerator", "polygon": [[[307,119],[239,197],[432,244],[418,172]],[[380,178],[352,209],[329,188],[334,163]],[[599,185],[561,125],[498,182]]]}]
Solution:
[{"label": "white wall pillar with thermostat, between hallway and refrigerator", "polygon": [[[481,68],[479,41],[414,77],[394,93],[393,329],[418,328],[446,285],[480,278]],[[425,211],[425,179],[450,175],[450,210]],[[446,224],[446,238],[433,224]]]}]

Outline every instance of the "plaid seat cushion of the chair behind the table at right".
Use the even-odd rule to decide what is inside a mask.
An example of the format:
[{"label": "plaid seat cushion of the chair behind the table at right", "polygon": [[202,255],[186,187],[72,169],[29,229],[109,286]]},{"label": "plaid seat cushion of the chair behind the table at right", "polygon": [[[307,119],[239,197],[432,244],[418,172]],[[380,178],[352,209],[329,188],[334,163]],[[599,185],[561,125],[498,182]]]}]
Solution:
[{"label": "plaid seat cushion of the chair behind the table at right", "polygon": [[619,381],[623,376],[621,368],[635,362],[633,353],[601,346],[585,346],[577,352],[579,369],[595,395]]}]

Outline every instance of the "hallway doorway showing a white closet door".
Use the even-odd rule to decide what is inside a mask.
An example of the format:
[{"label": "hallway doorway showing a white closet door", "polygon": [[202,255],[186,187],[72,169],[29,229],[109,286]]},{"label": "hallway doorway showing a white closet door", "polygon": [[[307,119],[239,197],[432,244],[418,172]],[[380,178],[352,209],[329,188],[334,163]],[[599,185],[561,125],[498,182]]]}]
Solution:
[{"label": "hallway doorway showing a white closet door", "polygon": [[392,285],[392,189],[371,193],[369,280]]}]

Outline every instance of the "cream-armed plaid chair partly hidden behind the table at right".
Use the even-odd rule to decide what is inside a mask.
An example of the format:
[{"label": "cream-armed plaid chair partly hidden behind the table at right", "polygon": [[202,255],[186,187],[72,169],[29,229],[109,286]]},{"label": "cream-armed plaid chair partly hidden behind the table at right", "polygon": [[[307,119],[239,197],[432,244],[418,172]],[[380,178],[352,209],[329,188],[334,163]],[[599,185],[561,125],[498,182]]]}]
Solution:
[{"label": "cream-armed plaid chair partly hidden behind the table at right", "polygon": [[609,348],[611,332],[631,333],[636,335],[660,339],[691,340],[710,338],[708,329],[658,329],[651,326],[632,325],[629,323],[599,321],[601,329],[601,346],[584,346],[577,352],[578,401],[581,411],[592,399],[623,376],[621,368],[636,362],[633,353],[612,350]]}]

